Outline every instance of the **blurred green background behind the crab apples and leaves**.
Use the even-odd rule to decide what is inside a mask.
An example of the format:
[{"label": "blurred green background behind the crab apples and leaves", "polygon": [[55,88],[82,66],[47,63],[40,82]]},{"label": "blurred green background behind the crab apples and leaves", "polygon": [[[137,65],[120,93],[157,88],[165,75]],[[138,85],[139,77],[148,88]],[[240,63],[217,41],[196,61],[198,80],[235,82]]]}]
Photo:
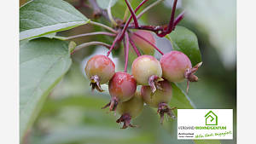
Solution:
[{"label": "blurred green background behind the crab apples and leaves", "polygon": [[[103,1],[103,0],[102,0]],[[74,6],[78,0],[67,1]],[[86,1],[84,1],[86,3]],[[141,1],[133,0],[135,6]],[[149,3],[153,3],[149,0]],[[147,4],[146,4],[147,5]],[[172,0],[160,3],[144,14],[140,23],[164,25],[168,22]],[[191,83],[189,98],[196,108],[231,108],[234,110],[234,140],[221,141],[224,144],[236,143],[236,1],[235,0],[178,0],[177,14],[185,9],[185,17],[179,24],[189,28],[198,37],[203,66],[197,72],[200,81]],[[93,20],[92,10],[86,7],[79,11]],[[124,15],[124,3],[120,1],[113,7],[114,17]],[[97,20],[109,25],[104,18]],[[79,26],[61,36],[72,36],[85,32],[101,31],[94,26]],[[165,38],[157,39],[157,46],[164,52],[172,48]],[[76,43],[92,40],[111,43],[112,38],[91,36],[74,39]],[[123,71],[124,58],[122,50],[111,55],[117,69]],[[169,119],[160,125],[156,110],[145,107],[143,113],[132,121],[140,127],[120,130],[121,125],[108,110],[101,107],[108,103],[108,86],[103,93],[91,92],[89,81],[84,77],[86,60],[95,54],[106,54],[102,47],[88,47],[72,55],[73,65],[49,95],[31,130],[26,134],[26,144],[179,144],[194,141],[177,141],[177,120]],[[155,57],[160,55],[155,52]],[[131,65],[131,61],[129,63]],[[130,72],[130,70],[128,70]],[[185,83],[180,86],[185,89]]]}]

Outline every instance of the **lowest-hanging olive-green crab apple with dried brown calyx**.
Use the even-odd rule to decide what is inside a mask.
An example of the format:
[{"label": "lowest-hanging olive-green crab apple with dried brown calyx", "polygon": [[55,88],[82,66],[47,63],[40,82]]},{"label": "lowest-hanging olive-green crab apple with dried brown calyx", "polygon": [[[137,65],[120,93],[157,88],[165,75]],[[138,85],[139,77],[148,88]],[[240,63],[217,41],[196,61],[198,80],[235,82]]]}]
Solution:
[{"label": "lowest-hanging olive-green crab apple with dried brown calyx", "polygon": [[129,101],[125,101],[119,104],[117,111],[121,117],[116,121],[116,123],[124,123],[122,129],[126,129],[128,126],[137,127],[131,124],[131,118],[137,118],[137,116],[143,111],[143,98],[139,92]]}]

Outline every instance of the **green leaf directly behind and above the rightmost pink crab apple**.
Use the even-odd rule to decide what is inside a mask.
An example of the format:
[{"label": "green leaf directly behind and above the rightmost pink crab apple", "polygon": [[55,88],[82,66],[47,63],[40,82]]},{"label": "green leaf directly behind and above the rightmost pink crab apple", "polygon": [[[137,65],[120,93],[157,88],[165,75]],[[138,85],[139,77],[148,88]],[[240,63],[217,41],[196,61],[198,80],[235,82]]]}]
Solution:
[{"label": "green leaf directly behind and above the rightmost pink crab apple", "polygon": [[201,52],[194,32],[183,26],[176,26],[173,32],[166,35],[166,38],[171,41],[174,50],[188,55],[193,66],[201,62]]}]

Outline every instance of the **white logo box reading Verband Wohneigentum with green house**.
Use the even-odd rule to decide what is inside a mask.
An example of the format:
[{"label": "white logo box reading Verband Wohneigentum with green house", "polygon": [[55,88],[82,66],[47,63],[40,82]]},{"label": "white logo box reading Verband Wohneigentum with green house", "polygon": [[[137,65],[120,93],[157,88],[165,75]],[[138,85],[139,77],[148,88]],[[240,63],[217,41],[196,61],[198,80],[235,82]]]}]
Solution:
[{"label": "white logo box reading Verband Wohneigentum with green house", "polygon": [[177,109],[177,139],[233,139],[233,109]]}]

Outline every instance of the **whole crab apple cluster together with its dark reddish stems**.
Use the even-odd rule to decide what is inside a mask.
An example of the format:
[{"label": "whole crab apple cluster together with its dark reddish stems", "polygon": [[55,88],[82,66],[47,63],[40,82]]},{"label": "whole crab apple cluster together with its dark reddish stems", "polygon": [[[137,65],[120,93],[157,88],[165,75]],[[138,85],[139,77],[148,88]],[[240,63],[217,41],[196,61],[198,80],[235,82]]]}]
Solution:
[{"label": "whole crab apple cluster together with its dark reddish stems", "polygon": [[[119,114],[121,114],[121,117],[116,122],[124,123],[123,129],[128,126],[135,127],[130,124],[131,118],[136,118],[140,112],[142,112],[144,102],[149,107],[158,108],[157,112],[160,114],[160,123],[163,122],[165,113],[175,118],[172,112],[175,107],[168,107],[168,103],[172,99],[171,82],[181,82],[185,78],[188,80],[188,84],[189,82],[196,82],[198,78],[194,74],[201,66],[201,63],[199,63],[192,67],[189,58],[180,51],[173,50],[164,54],[155,46],[154,37],[151,34],[149,34],[151,37],[148,37],[146,31],[129,31],[129,29],[148,30],[155,32],[159,37],[165,37],[172,32],[175,26],[177,26],[177,23],[183,19],[184,13],[179,14],[176,19],[174,17],[177,5],[177,0],[174,0],[171,20],[168,25],[140,26],[137,21],[136,13],[146,2],[148,2],[148,0],[143,0],[143,2],[133,10],[129,0],[125,0],[131,12],[131,16],[126,22],[117,21],[118,26],[115,26],[115,30],[111,27],[104,26],[114,33],[114,36],[111,35],[114,37],[113,43],[109,46],[107,55],[96,55],[92,57],[87,62],[84,69],[87,77],[90,78],[92,89],[97,89],[102,92],[101,84],[108,84],[108,92],[111,95],[111,100],[102,108],[109,107],[109,110],[114,112],[117,110]],[[134,23],[130,25],[131,19],[134,20]],[[99,26],[100,24],[97,25]],[[104,32],[98,34],[110,35]],[[113,61],[108,58],[115,44],[119,42],[124,44],[124,72],[115,72]],[[87,43],[87,45],[89,44],[90,43]],[[127,73],[130,44],[138,56],[137,59],[132,62],[132,75]],[[142,50],[142,53],[146,55],[142,55],[139,49],[137,49],[137,46]],[[147,49],[145,49],[145,47],[147,47]],[[154,49],[157,50],[163,55],[160,61],[152,56],[154,54],[151,54],[152,49],[153,51]],[[136,92],[137,85],[142,85],[140,93]]]}]

